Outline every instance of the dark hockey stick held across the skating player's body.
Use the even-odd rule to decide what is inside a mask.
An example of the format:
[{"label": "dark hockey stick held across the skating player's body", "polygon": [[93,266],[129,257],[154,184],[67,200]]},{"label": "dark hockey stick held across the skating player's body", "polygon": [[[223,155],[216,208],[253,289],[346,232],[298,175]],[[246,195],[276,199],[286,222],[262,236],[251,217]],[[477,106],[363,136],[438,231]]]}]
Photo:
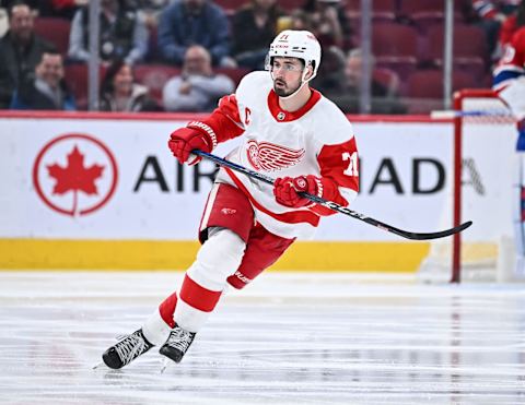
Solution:
[{"label": "dark hockey stick held across the skating player's body", "polygon": [[[271,177],[262,175],[262,174],[254,171],[254,170],[250,170],[250,169],[248,169],[246,167],[243,167],[241,165],[237,165],[233,162],[230,162],[230,160],[226,160],[222,157],[212,155],[211,153],[202,152],[202,151],[199,151],[199,150],[194,150],[194,151],[191,151],[191,153],[194,155],[198,155],[198,156],[203,157],[206,159],[212,160],[212,162],[217,163],[219,166],[228,167],[232,170],[242,172],[243,175],[246,175],[246,176],[252,177],[254,179],[257,179],[259,181],[266,182],[268,184],[273,184],[273,179]],[[328,201],[328,200],[322,199],[317,195],[308,194],[306,192],[300,192],[299,195],[301,195],[303,198],[306,198],[306,199],[308,199],[308,200],[311,200],[311,201],[313,201],[313,202],[315,202],[319,205],[326,206],[327,209],[334,210],[334,211],[336,211],[340,214],[345,214],[345,215],[351,216],[353,218],[361,219],[369,225],[373,225],[373,226],[375,226],[380,229],[389,231],[392,234],[399,235],[399,236],[401,236],[406,239],[411,239],[411,240],[429,240],[429,239],[444,238],[446,236],[451,236],[451,235],[460,233],[462,230],[464,230],[464,229],[468,228],[470,225],[472,225],[472,222],[468,221],[468,222],[466,222],[466,223],[464,223],[459,226],[456,226],[454,228],[440,230],[440,231],[436,231],[436,233],[411,233],[411,231],[402,230],[402,229],[396,228],[394,226],[390,226],[388,224],[382,223],[381,221],[371,218],[366,215],[360,214],[355,211],[352,211],[352,210],[347,209],[342,205],[339,205],[339,204],[335,203],[334,201]]]}]

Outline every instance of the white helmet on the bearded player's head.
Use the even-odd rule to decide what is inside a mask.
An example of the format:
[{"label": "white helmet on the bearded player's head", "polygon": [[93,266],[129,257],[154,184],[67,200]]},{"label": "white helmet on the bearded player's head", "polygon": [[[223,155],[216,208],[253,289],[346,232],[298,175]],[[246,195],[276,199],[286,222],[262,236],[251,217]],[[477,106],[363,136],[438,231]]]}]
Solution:
[{"label": "white helmet on the bearded player's head", "polygon": [[284,29],[270,44],[266,69],[271,71],[275,57],[298,58],[313,68],[313,74],[305,82],[310,82],[317,74],[320,64],[320,45],[310,31]]}]

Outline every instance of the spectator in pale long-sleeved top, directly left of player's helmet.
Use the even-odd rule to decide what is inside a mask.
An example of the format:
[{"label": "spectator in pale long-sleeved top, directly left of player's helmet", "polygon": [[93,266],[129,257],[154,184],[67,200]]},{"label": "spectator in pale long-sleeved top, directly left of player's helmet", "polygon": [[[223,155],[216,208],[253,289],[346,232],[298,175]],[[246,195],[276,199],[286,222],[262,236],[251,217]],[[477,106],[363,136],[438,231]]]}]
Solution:
[{"label": "spectator in pale long-sleeved top, directly left of player's helmet", "polygon": [[224,74],[214,74],[211,57],[206,48],[194,45],[184,58],[183,73],[171,79],[163,90],[164,108],[167,111],[211,111],[235,85]]}]

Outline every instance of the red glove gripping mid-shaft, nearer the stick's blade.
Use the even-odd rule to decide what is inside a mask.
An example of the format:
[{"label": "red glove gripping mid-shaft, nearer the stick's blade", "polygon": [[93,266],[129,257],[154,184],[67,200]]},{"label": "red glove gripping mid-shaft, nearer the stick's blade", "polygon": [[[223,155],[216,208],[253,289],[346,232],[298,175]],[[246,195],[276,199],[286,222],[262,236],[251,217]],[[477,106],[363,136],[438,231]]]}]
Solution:
[{"label": "red glove gripping mid-shaft, nearer the stick's blade", "polygon": [[299,176],[295,178],[282,177],[273,182],[273,195],[279,204],[300,209],[313,204],[312,201],[298,194],[298,192],[307,192],[317,195],[318,179],[315,176]]}]

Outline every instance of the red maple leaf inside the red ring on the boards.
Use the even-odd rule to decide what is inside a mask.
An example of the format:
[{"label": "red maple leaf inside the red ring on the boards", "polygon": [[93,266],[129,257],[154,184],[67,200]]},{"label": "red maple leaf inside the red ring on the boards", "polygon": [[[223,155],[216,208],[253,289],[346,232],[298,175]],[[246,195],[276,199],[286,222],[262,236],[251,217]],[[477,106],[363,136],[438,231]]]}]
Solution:
[{"label": "red maple leaf inside the red ring on the boards", "polygon": [[82,191],[88,195],[98,194],[95,180],[102,176],[105,166],[93,165],[84,167],[84,155],[82,155],[74,145],[68,155],[68,165],[61,167],[58,164],[47,166],[49,176],[57,182],[52,188],[54,194],[65,194],[68,191],[73,192],[73,213],[77,212],[78,192]]}]

